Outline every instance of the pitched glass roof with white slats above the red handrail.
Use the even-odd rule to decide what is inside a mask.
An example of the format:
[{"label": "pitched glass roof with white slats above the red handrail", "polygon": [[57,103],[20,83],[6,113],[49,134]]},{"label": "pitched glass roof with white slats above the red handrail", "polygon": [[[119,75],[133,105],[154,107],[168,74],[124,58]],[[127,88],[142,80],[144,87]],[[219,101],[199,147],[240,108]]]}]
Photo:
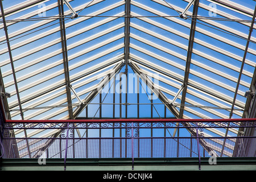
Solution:
[{"label": "pitched glass roof with white slats above the red handrail", "polygon": [[2,1],[9,119],[244,117],[255,1],[67,2]]}]

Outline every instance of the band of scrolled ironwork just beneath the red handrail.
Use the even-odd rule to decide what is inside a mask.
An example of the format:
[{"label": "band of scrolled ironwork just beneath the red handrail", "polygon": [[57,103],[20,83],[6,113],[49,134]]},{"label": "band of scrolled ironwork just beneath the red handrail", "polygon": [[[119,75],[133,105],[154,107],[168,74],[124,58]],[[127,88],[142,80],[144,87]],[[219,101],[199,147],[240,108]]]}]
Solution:
[{"label": "band of scrolled ironwork just beneath the red handrail", "polygon": [[[192,137],[204,137],[204,129],[240,129],[256,127],[254,121],[236,122],[42,122],[42,123],[5,123],[4,138],[10,138],[15,130],[60,130],[61,138],[73,137],[77,129],[124,129],[125,137],[139,137],[139,129],[187,129]],[[69,135],[67,136],[67,131]],[[133,132],[132,132],[133,131]],[[133,133],[133,134],[131,134]]]}]

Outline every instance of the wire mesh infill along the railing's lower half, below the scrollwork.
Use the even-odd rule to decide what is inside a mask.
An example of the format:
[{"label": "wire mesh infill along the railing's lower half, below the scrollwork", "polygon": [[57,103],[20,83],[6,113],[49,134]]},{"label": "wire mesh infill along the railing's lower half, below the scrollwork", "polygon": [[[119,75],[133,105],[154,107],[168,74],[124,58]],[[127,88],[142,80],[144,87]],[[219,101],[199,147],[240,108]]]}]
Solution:
[{"label": "wire mesh infill along the railing's lower half, below the scrollwork", "polygon": [[[256,138],[4,139],[3,158],[197,158],[255,157]],[[225,142],[225,147],[221,143]],[[30,146],[27,146],[27,143]]]}]

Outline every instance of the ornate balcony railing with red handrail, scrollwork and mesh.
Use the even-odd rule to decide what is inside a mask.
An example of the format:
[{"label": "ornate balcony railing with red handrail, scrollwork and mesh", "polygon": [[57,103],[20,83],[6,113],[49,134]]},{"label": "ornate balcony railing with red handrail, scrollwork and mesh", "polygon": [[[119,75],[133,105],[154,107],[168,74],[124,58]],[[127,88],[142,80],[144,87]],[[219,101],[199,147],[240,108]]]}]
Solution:
[{"label": "ornate balcony railing with red handrail, scrollwork and mesh", "polygon": [[[3,159],[255,157],[248,119],[7,121]],[[210,134],[214,134],[213,136]],[[217,135],[218,134],[218,135]]]}]

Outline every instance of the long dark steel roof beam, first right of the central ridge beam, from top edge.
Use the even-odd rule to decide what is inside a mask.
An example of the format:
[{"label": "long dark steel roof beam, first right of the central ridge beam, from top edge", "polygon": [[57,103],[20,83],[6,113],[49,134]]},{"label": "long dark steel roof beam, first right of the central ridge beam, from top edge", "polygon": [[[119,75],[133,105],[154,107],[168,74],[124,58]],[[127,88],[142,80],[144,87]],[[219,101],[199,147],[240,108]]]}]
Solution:
[{"label": "long dark steel roof beam, first right of the central ridge beam, from top edge", "polygon": [[189,35],[189,40],[188,40],[188,53],[187,53],[185,75],[184,75],[184,81],[183,81],[184,89],[183,89],[182,97],[181,97],[179,118],[183,118],[183,113],[184,113],[184,104],[185,104],[185,97],[186,97],[186,93],[187,93],[187,84],[188,84],[189,70],[190,70],[190,65],[191,65],[193,42],[194,42],[195,31],[196,31],[196,18],[195,17],[197,16],[198,5],[199,5],[199,0],[196,0],[194,3],[194,7],[193,7],[193,18],[191,20],[190,35]]}]

